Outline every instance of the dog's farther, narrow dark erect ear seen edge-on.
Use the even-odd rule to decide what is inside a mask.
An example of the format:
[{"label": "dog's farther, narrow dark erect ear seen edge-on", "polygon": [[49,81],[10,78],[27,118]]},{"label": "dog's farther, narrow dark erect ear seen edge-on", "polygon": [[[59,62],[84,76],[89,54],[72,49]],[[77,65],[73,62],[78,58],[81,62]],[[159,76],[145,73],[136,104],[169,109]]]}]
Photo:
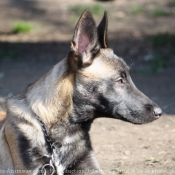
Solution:
[{"label": "dog's farther, narrow dark erect ear seen edge-on", "polygon": [[101,45],[101,48],[108,48],[107,31],[108,31],[108,16],[107,11],[105,11],[104,16],[98,26],[98,40]]}]

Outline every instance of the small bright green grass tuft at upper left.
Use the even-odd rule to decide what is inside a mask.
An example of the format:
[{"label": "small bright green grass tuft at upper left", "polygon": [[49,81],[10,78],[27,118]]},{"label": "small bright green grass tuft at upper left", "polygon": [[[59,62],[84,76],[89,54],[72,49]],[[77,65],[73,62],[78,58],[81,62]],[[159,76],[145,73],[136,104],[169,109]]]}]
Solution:
[{"label": "small bright green grass tuft at upper left", "polygon": [[28,33],[33,30],[33,25],[24,21],[13,23],[12,30],[14,33]]}]

